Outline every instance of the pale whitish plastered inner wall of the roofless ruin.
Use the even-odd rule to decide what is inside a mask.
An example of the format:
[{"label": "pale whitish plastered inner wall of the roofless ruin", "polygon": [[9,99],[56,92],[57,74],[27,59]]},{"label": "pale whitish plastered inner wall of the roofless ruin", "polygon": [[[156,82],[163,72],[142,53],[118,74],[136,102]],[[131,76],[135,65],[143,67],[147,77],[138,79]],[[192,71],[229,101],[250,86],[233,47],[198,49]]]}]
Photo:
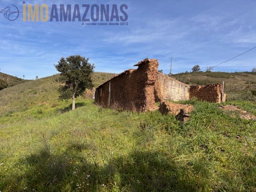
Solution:
[{"label": "pale whitish plastered inner wall of the roofless ruin", "polygon": [[162,100],[179,101],[189,99],[189,85],[157,72],[158,86]]}]

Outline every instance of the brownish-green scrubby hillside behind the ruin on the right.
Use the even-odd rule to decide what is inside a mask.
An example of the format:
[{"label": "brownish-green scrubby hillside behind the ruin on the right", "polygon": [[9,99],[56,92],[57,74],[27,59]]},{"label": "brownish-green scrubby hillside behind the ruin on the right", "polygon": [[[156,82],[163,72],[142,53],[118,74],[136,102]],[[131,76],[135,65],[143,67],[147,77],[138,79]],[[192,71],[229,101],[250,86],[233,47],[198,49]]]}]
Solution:
[{"label": "brownish-green scrubby hillside behind the ruin on the right", "polygon": [[222,84],[224,81],[224,92],[228,100],[250,99],[256,90],[256,73],[252,72],[187,72],[172,77],[189,85]]}]

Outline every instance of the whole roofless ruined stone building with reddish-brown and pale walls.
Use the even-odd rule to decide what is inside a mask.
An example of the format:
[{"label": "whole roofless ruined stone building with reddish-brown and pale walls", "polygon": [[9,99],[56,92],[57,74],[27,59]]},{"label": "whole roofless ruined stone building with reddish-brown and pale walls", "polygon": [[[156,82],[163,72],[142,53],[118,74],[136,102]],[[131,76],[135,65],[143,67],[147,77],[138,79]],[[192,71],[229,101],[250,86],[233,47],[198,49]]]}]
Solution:
[{"label": "whole roofless ruined stone building with reddish-brown and pale walls", "polygon": [[[222,85],[192,87],[157,71],[158,60],[145,59],[96,88],[95,103],[123,110],[151,111],[156,102],[199,100],[220,102]],[[210,94],[208,94],[210,93]]]}]

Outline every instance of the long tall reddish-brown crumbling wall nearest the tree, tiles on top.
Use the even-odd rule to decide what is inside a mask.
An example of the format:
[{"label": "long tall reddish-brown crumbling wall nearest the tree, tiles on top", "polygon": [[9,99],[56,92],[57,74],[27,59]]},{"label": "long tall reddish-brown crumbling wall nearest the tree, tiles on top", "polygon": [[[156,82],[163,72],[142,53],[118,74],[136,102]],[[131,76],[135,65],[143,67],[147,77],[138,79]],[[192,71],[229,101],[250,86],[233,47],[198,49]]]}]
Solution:
[{"label": "long tall reddish-brown crumbling wall nearest the tree, tiles on top", "polygon": [[100,85],[95,92],[95,103],[124,110],[153,110],[158,61],[145,59],[135,66],[137,70],[126,70]]}]

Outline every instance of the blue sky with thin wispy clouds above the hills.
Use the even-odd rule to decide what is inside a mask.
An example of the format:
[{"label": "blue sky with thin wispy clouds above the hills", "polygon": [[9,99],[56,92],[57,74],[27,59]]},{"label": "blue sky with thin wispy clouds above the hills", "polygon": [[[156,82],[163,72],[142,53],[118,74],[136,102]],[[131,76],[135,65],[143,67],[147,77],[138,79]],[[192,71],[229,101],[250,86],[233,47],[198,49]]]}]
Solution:
[{"label": "blue sky with thin wispy clouds above the hills", "polygon": [[[0,8],[22,1],[1,0]],[[0,14],[1,72],[33,79],[56,74],[64,56],[90,58],[98,72],[120,73],[144,58],[173,73],[204,70],[256,46],[255,0],[30,0],[26,4],[127,4],[128,26],[82,26],[82,22],[11,22]],[[256,49],[214,71],[250,71]]]}]

